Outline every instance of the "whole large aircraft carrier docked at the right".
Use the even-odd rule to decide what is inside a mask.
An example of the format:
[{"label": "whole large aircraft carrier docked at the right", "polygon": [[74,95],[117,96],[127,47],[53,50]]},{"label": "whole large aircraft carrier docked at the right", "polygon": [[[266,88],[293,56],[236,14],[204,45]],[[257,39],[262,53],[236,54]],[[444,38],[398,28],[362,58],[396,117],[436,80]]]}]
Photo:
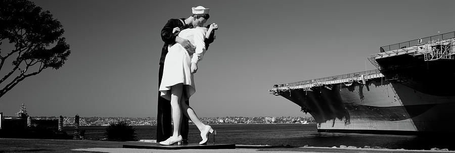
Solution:
[{"label": "whole large aircraft carrier docked at the right", "polygon": [[455,32],[382,46],[377,70],[276,84],[318,132],[455,133]]}]

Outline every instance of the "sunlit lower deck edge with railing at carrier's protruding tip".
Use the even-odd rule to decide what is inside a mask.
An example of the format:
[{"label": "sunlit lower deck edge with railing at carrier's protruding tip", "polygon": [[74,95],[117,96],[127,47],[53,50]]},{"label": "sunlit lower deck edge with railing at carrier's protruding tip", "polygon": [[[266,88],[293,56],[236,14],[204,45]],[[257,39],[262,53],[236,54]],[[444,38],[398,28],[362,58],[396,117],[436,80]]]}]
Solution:
[{"label": "sunlit lower deck edge with railing at carrier's protruding tip", "polygon": [[338,84],[343,82],[353,82],[354,80],[365,80],[383,77],[379,70],[361,71],[355,73],[348,73],[343,75],[336,75],[331,77],[324,77],[318,79],[311,79],[305,81],[291,82],[285,84],[276,84],[269,90],[270,93],[276,94],[278,90],[287,91],[292,89],[305,89],[310,90],[314,86],[323,86],[325,84]]}]

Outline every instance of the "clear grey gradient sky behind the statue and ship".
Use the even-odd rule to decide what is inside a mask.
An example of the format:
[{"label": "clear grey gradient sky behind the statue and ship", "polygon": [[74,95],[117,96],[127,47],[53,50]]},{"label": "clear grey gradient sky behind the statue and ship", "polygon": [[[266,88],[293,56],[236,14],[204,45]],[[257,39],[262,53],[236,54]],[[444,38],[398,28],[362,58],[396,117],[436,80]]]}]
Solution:
[{"label": "clear grey gradient sky behind the statue and ship", "polygon": [[[455,1],[35,1],[71,45],[0,98],[13,116],[156,117],[161,28],[210,8],[216,39],[195,74],[199,117],[305,116],[278,83],[365,71],[379,47],[455,30]],[[367,69],[375,69],[367,63]]]}]

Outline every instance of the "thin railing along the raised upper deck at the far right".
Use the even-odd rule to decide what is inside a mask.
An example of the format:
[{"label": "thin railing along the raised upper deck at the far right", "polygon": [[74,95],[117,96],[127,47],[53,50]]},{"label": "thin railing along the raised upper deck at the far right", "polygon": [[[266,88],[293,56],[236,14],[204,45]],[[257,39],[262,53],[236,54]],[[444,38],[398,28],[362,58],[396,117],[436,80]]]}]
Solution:
[{"label": "thin railing along the raised upper deck at the far right", "polygon": [[450,39],[450,38],[455,38],[455,31],[438,34],[438,35],[434,35],[434,36],[429,36],[429,37],[425,37],[425,38],[395,43],[395,44],[391,44],[391,45],[385,45],[385,46],[379,47],[379,50],[381,53],[383,53],[383,52],[388,52],[390,50],[397,50],[397,49],[402,49],[402,48],[411,47],[411,46],[417,46],[417,45],[421,45],[424,43],[432,43],[432,42],[436,42],[439,40]]}]

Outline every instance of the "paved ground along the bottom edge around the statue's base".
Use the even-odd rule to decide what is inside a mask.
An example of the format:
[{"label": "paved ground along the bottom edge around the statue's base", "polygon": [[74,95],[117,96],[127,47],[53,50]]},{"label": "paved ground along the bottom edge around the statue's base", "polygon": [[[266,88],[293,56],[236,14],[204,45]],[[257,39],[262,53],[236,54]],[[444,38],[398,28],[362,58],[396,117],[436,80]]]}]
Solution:
[{"label": "paved ground along the bottom edge around the statue's base", "polygon": [[330,148],[330,147],[277,147],[277,148],[246,148],[239,145],[237,149],[134,149],[122,148],[123,145],[142,145],[147,142],[117,142],[117,141],[94,141],[94,140],[53,140],[53,139],[15,139],[0,138],[0,152],[31,152],[31,153],[50,153],[50,152],[274,152],[274,153],[295,153],[295,152],[343,152],[343,153],[412,153],[412,152],[443,152],[455,153],[455,151],[432,151],[432,150],[401,150],[401,149],[363,149],[363,148]]}]

